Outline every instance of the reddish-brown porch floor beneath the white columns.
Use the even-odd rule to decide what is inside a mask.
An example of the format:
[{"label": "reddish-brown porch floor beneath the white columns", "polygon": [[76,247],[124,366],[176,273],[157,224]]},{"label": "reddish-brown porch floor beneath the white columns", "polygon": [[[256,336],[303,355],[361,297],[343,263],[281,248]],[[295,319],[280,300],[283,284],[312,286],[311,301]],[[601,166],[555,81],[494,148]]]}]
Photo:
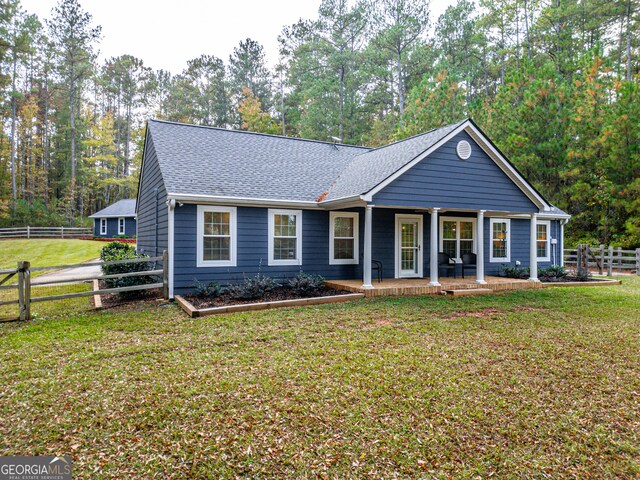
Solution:
[{"label": "reddish-brown porch floor beneath the white columns", "polygon": [[490,293],[504,290],[528,290],[543,286],[540,282],[494,276],[485,276],[484,281],[486,283],[480,284],[475,276],[467,276],[466,278],[441,277],[438,286],[432,285],[428,277],[387,278],[382,282],[374,281],[373,288],[365,288],[362,280],[326,280],[325,284],[330,288],[364,293],[366,297],[480,293],[473,292],[474,290],[488,290],[487,293]]}]

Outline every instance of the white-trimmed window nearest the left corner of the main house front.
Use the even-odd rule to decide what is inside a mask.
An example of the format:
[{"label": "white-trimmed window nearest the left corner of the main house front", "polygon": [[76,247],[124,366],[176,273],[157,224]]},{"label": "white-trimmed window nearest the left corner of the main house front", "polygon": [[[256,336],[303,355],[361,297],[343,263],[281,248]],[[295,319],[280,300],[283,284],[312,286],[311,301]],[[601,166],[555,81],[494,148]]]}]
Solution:
[{"label": "white-trimmed window nearest the left corner of the main house front", "polygon": [[235,267],[237,209],[198,205],[198,267]]}]

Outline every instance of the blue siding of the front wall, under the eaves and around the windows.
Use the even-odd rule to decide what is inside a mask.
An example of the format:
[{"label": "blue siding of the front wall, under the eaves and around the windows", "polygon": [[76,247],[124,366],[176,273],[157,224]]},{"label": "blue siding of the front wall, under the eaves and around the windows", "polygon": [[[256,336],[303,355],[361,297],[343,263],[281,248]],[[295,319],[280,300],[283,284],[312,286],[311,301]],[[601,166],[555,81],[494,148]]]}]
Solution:
[{"label": "blue siding of the front wall, under the eaves and around the windows", "polygon": [[[360,279],[362,278],[362,255],[364,252],[364,209],[352,209],[360,213],[359,243],[360,263],[358,265],[329,265],[329,212],[304,210],[302,212],[302,265],[301,266],[269,266],[268,263],[268,209],[258,207],[238,207],[238,252],[236,267],[197,267],[196,266],[196,229],[197,206],[185,204],[175,210],[175,293],[185,293],[190,290],[194,279],[221,284],[236,283],[245,277],[252,277],[263,273],[278,279],[294,276],[299,271],[322,275],[328,279]],[[384,277],[393,278],[395,275],[395,216],[396,214],[412,214],[413,210],[392,208],[374,208],[373,210],[373,241],[372,258],[380,260],[384,265]],[[470,217],[476,215],[470,212],[455,212],[441,217]],[[423,217],[423,274],[430,275],[430,224],[431,215]],[[511,265],[516,260],[523,267],[529,265],[529,234],[528,219],[511,219]],[[484,253],[485,274],[498,275],[504,262],[491,263],[490,257],[490,223],[485,218],[484,224]],[[557,238],[559,223],[551,222],[551,236]],[[557,263],[557,257],[556,257]],[[550,265],[550,262],[538,262],[540,267]],[[458,270],[458,274],[460,271]],[[475,272],[471,272],[475,275]],[[375,282],[375,278],[373,279]]]}]

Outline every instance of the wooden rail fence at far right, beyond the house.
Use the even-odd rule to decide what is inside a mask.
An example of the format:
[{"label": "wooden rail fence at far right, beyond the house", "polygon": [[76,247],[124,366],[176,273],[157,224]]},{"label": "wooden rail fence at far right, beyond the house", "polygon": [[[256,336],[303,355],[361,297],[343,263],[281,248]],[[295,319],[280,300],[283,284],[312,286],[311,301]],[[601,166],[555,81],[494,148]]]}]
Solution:
[{"label": "wooden rail fence at far right, beyond the house", "polygon": [[640,275],[640,248],[622,248],[600,245],[578,245],[578,248],[564,249],[564,264],[576,270],[597,270],[600,275],[613,273],[635,273]]}]

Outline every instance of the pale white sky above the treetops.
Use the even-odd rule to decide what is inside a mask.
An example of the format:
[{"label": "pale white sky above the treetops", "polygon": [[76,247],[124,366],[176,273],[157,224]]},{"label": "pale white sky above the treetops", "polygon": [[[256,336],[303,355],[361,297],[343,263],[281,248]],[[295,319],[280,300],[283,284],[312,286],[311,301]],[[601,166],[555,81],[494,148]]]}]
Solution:
[{"label": "pale white sky above the treetops", "polygon": [[[57,0],[21,0],[43,20]],[[454,0],[432,0],[435,23]],[[260,42],[267,62],[278,60],[278,34],[300,18],[316,18],[320,0],[80,0],[102,26],[101,60],[130,54],[154,70],[180,73],[187,60],[215,55],[225,63],[233,48],[249,37]]]}]

